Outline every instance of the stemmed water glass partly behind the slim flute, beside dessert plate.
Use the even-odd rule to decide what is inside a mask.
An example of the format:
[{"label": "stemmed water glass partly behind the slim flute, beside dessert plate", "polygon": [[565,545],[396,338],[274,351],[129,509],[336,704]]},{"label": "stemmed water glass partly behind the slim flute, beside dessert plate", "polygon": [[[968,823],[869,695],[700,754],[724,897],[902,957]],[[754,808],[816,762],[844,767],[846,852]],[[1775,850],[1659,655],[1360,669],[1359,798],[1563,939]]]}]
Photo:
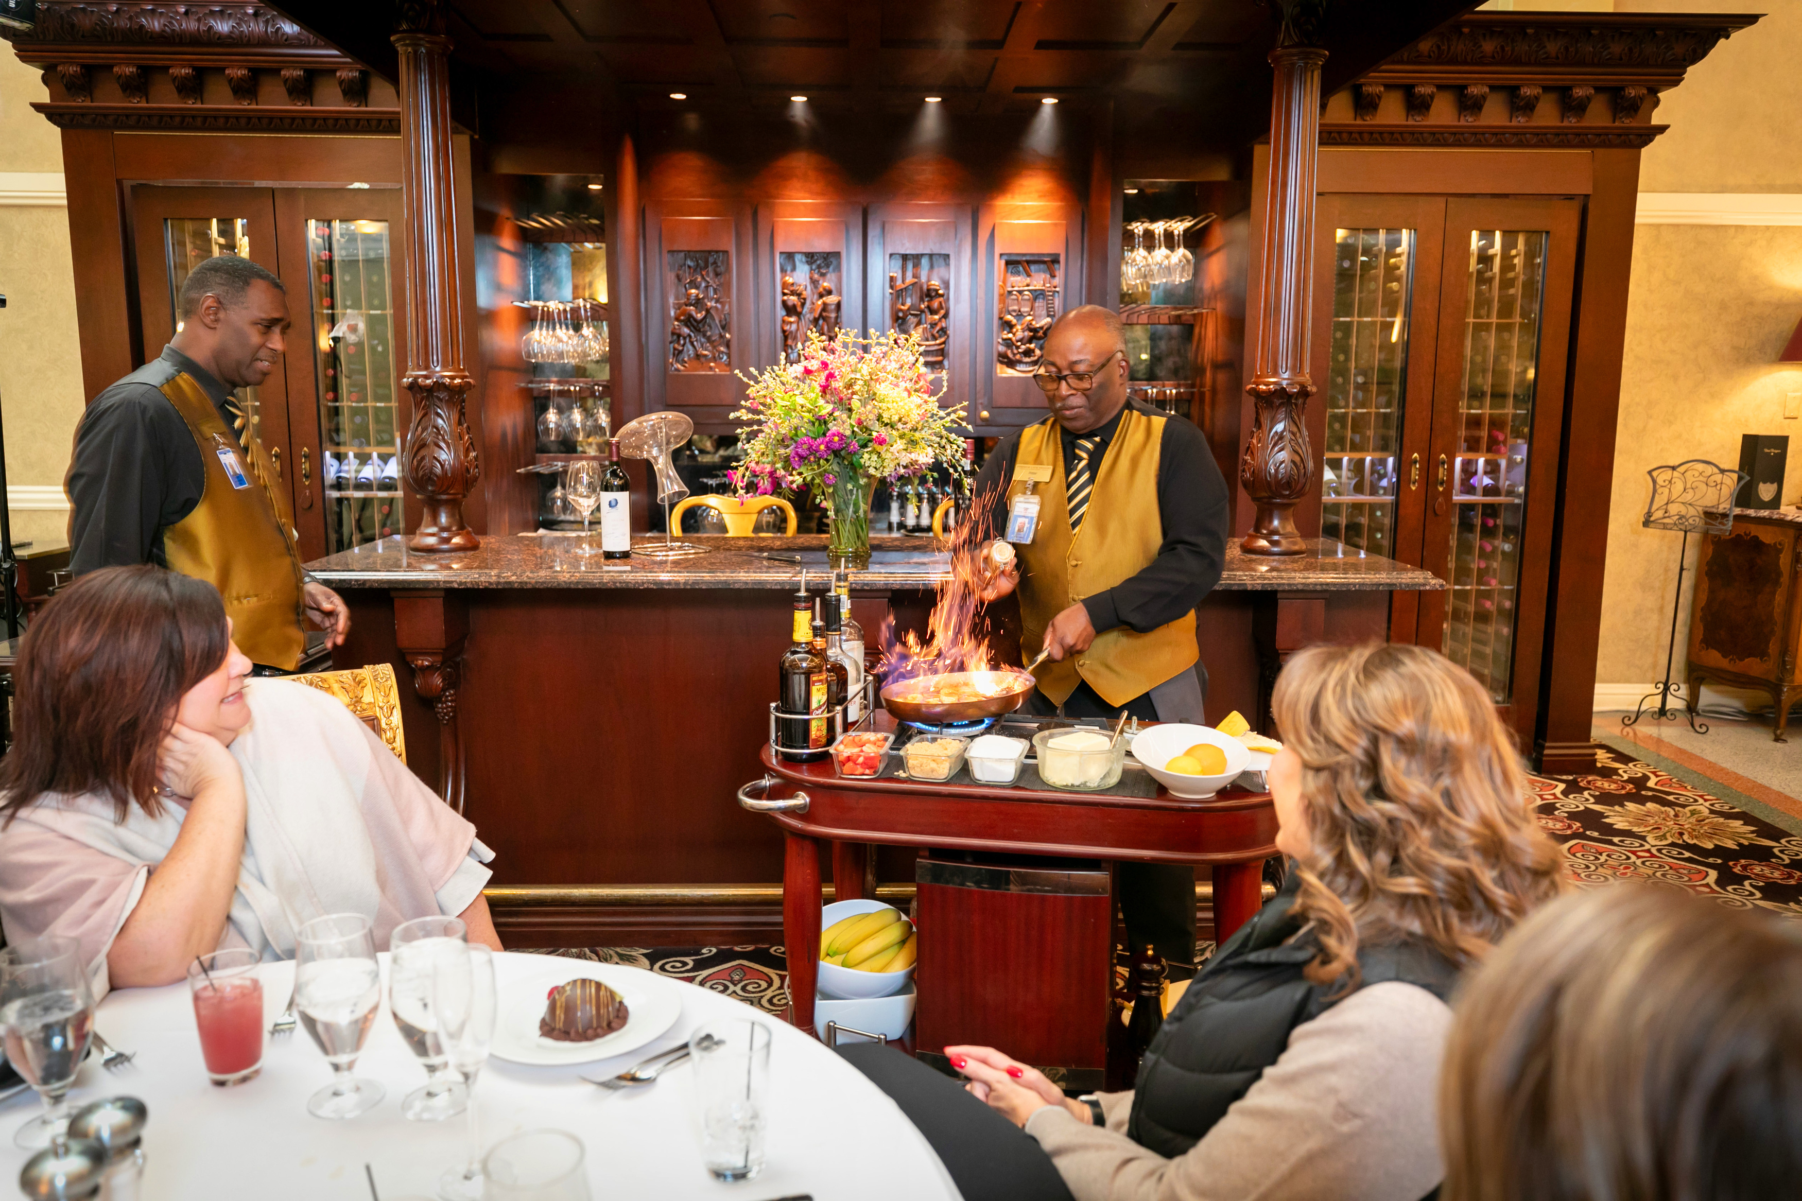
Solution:
[{"label": "stemmed water glass partly behind the slim flute, beside dessert plate", "polygon": [[[454,1118],[469,1104],[469,1089],[450,1068],[436,985],[438,969],[460,960],[469,978],[469,931],[460,918],[414,918],[395,927],[387,949],[387,1010],[407,1048],[425,1064],[425,1084],[405,1095],[400,1113],[413,1122]],[[447,985],[454,971],[445,974]]]}]

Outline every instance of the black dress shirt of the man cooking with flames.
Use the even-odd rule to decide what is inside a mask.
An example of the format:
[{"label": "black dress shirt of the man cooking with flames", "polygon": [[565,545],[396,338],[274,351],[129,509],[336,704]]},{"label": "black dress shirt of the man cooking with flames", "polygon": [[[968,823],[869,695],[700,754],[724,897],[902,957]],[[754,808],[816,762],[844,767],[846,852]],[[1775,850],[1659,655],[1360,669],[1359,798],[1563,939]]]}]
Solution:
[{"label": "black dress shirt of the man cooking with flames", "polygon": [[[1168,418],[1168,414],[1137,400],[1126,403],[1142,414]],[[1101,461],[1114,443],[1119,423],[1121,414],[1114,414],[1114,420],[1101,429],[1081,434],[1081,438],[1101,438],[1101,445],[1088,454],[1090,472],[1097,479]],[[1063,434],[1063,461],[1070,463],[1078,434],[1060,432]],[[995,497],[989,502],[989,528],[995,531],[1007,528],[1007,483],[1013,479],[1018,454],[1020,434],[1009,434],[977,472],[971,495],[980,497],[993,490],[989,493]],[[1094,506],[1097,501],[1090,497],[1088,504]],[[1207,438],[1182,418],[1164,421],[1157,459],[1157,508],[1164,533],[1157,558],[1139,574],[1083,600],[1083,609],[1088,610],[1088,623],[1096,627],[1096,634],[1119,625],[1139,634],[1169,625],[1198,607],[1220,583],[1227,553],[1227,481],[1220,475]],[[1031,587],[1031,583],[1022,582],[1022,587]]]}]

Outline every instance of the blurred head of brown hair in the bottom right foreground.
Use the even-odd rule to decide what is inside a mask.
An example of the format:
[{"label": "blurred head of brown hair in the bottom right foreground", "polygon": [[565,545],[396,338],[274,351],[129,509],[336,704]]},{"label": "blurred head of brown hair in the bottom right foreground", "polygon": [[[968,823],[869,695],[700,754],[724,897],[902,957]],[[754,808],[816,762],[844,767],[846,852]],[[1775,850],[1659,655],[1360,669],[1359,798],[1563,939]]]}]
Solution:
[{"label": "blurred head of brown hair in the bottom right foreground", "polygon": [[1764,1201],[1802,1181],[1802,929],[1674,888],[1546,906],[1458,998],[1445,1201]]}]

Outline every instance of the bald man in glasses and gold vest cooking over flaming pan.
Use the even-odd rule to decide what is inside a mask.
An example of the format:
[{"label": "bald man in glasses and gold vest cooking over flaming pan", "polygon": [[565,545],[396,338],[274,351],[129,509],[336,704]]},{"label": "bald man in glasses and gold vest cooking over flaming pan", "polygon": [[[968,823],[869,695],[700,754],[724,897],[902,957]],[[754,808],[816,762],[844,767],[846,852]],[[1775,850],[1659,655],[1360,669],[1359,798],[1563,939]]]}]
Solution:
[{"label": "bald man in glasses and gold vest cooking over flaming pan", "polygon": [[[1027,711],[1206,724],[1195,609],[1225,564],[1227,483],[1195,425],[1128,396],[1126,335],[1099,304],[1045,335],[1033,382],[1051,416],[1009,434],[977,475],[1015,564],[982,592],[1020,594],[1020,646],[1049,661]],[[1195,871],[1119,864],[1133,949],[1195,963]]]}]

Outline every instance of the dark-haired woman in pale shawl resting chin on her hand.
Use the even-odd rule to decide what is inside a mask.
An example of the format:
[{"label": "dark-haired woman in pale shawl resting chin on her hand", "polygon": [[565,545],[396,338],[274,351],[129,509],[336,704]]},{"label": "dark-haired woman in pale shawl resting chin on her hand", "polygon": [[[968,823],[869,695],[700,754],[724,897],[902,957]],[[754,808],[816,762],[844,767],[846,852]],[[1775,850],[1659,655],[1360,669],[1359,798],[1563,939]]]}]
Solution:
[{"label": "dark-haired woman in pale shawl resting chin on her hand", "polygon": [[450,913],[499,949],[476,828],[335,699],[249,670],[202,580],[108,567],[45,605],[0,760],[7,940],[79,940],[101,994],[218,947],[292,958],[323,913],[378,945]]}]

